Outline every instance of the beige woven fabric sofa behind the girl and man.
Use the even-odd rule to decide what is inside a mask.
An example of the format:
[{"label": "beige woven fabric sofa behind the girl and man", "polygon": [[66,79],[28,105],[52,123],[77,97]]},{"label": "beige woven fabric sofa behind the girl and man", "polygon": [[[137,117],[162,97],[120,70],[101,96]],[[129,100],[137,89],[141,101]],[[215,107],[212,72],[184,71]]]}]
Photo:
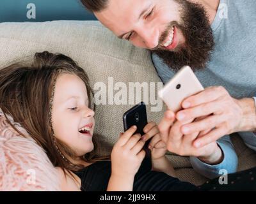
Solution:
[{"label": "beige woven fabric sofa behind the girl and man", "polygon": [[[97,82],[108,85],[109,77],[113,77],[114,83],[125,82],[127,85],[129,82],[161,82],[148,50],[119,40],[99,22],[0,24],[0,68],[13,61],[31,61],[35,52],[44,50],[72,57],[88,73],[92,87]],[[97,105],[95,136],[100,140],[102,154],[111,152],[111,147],[123,131],[122,115],[132,106]],[[159,122],[164,108],[160,112],[151,112],[152,106],[152,103],[147,105],[148,120]],[[248,149],[239,136],[232,136],[232,140],[239,156],[239,170],[256,166],[255,152]],[[181,180],[196,185],[205,182],[206,179],[191,168],[188,157],[169,153],[168,158]]]}]

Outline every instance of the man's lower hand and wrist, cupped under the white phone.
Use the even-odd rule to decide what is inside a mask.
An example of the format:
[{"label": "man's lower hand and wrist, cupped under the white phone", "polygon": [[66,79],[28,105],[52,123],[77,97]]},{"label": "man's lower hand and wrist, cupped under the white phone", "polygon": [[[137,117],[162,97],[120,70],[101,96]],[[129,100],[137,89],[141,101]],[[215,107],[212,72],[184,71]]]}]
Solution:
[{"label": "man's lower hand and wrist, cupped under the white phone", "polygon": [[[191,122],[191,120],[186,122]],[[175,114],[170,110],[164,113],[164,117],[158,127],[161,138],[166,143],[167,149],[180,156],[198,157],[198,159],[208,164],[220,163],[223,159],[223,155],[217,143],[211,142],[201,148],[194,147],[193,142],[198,137],[199,132],[183,135],[180,128],[185,123],[180,121],[175,122]]]}]

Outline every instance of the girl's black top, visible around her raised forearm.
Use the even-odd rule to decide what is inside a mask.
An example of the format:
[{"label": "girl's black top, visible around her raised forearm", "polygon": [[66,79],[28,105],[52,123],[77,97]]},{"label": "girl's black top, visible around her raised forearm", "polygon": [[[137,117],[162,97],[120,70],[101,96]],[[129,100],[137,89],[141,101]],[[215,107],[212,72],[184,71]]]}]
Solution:
[{"label": "girl's black top, visible around her raised forearm", "polygon": [[[76,172],[81,179],[81,191],[106,191],[111,175],[110,161],[97,161]],[[134,177],[133,191],[193,191],[188,182],[170,177],[166,173],[151,171],[151,163],[144,159]]]}]

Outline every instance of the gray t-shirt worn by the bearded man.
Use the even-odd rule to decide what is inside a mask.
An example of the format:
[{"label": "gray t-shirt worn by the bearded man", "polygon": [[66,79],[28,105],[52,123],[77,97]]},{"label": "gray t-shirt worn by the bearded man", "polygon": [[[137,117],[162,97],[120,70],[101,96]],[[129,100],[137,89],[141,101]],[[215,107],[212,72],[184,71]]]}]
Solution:
[{"label": "gray t-shirt worn by the bearded man", "polygon": [[[221,0],[211,24],[216,43],[205,69],[195,71],[204,87],[221,85],[234,98],[256,96],[256,1]],[[175,71],[156,54],[152,61],[165,84]],[[256,150],[253,133],[239,133]]]}]

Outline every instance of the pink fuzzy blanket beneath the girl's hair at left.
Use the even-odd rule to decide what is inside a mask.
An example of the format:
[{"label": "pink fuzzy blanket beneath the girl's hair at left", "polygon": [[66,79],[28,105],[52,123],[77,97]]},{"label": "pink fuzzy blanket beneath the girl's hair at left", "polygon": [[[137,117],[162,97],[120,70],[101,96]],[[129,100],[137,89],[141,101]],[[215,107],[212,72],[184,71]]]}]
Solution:
[{"label": "pink fuzzy blanket beneath the girl's hair at left", "polygon": [[[12,117],[8,119],[28,135]],[[0,191],[60,191],[60,177],[44,150],[19,135],[0,108]]]}]

